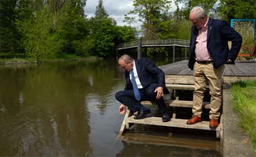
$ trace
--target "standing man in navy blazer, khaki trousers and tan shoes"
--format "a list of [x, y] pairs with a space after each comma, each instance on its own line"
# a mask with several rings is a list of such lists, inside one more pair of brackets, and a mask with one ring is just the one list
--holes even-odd
[[[188, 66], [194, 69], [195, 91], [193, 95], [193, 117], [187, 124], [201, 122], [202, 102], [206, 81], [210, 85], [210, 127], [218, 126], [221, 106], [221, 78], [224, 64], [234, 64], [239, 53], [242, 37], [223, 20], [210, 18], [202, 7], [193, 7], [189, 20], [191, 39]], [[231, 49], [228, 41], [232, 41]]]

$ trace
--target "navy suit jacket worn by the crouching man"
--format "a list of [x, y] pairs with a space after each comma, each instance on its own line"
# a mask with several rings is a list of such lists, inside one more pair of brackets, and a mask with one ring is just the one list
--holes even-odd
[[[165, 88], [165, 74], [161, 69], [155, 66], [150, 60], [147, 58], [143, 58], [140, 60], [134, 60], [135, 66], [137, 70], [137, 74], [139, 77], [139, 81], [143, 88], [147, 88], [152, 83], [157, 83], [158, 87]], [[132, 82], [130, 81], [130, 72], [125, 71], [125, 79], [126, 86], [125, 90], [133, 89]]]

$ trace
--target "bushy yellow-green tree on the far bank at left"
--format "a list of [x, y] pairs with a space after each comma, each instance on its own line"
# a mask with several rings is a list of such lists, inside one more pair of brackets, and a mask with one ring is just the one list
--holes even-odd
[[24, 20], [21, 30], [26, 54], [35, 60], [51, 58], [61, 50], [63, 40], [51, 33], [52, 20], [47, 7]]

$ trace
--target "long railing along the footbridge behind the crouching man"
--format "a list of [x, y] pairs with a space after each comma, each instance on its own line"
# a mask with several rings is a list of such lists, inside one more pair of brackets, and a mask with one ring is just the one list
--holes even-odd
[[[133, 42], [126, 42], [119, 44], [117, 46], [117, 49], [125, 49], [129, 47], [137, 47], [138, 46], [138, 40]], [[168, 39], [168, 40], [145, 40], [142, 41], [143, 47], [154, 47], [154, 46], [183, 46], [183, 47], [189, 47], [189, 40], [183, 40], [183, 39]]]

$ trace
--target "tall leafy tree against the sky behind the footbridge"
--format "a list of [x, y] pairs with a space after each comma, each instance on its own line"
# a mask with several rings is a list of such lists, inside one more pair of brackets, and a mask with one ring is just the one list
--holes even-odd
[[[158, 24], [161, 22], [161, 11], [168, 11], [171, 1], [169, 0], [134, 0], [134, 9], [129, 14], [139, 16], [139, 21], [143, 22], [143, 32], [146, 40], [158, 38]], [[134, 22], [134, 17], [125, 15], [125, 22]]]

